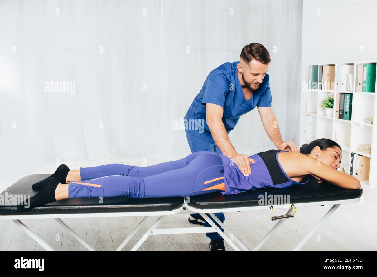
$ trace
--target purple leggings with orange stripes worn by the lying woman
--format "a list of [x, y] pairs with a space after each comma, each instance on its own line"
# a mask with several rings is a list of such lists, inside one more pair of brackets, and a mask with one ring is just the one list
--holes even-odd
[[124, 164], [82, 167], [80, 177], [80, 182], [69, 182], [69, 198], [185, 197], [225, 190], [222, 160], [209, 151], [146, 167]]

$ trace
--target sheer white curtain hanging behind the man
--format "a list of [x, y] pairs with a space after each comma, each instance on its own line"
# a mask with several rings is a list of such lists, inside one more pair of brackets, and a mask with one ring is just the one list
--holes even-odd
[[[270, 52], [273, 110], [297, 144], [301, 25], [299, 0], [0, 0], [0, 170], [189, 154], [175, 123], [252, 42]], [[274, 148], [257, 109], [230, 139]]]

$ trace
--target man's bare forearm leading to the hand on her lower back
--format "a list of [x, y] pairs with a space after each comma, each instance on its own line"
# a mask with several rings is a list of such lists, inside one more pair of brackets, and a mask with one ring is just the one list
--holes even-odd
[[237, 154], [236, 150], [229, 140], [224, 123], [221, 120], [215, 120], [212, 122], [207, 121], [207, 125], [211, 130], [213, 140], [225, 156], [231, 158], [233, 155]]

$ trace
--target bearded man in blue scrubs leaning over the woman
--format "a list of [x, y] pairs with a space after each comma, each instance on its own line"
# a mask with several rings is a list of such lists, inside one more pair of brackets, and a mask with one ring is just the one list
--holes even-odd
[[[270, 61], [270, 54], [262, 44], [251, 43], [242, 49], [239, 62], [224, 63], [209, 73], [184, 118], [186, 122], [194, 122], [185, 128], [191, 152], [223, 153], [245, 176], [249, 176], [250, 162], [254, 163], [254, 160], [245, 154], [238, 154], [228, 134], [239, 117], [255, 107], [268, 137], [277, 149], [299, 152], [293, 141], [283, 141], [276, 124], [271, 108], [270, 76], [267, 74]], [[216, 213], [216, 216], [224, 222], [223, 213]], [[190, 214], [189, 221], [210, 226], [200, 214]], [[224, 239], [218, 233], [206, 235], [211, 240], [211, 251], [225, 251]]]

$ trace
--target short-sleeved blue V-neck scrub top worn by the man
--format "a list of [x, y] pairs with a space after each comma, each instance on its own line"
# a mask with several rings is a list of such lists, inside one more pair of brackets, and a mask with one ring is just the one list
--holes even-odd
[[[221, 66], [213, 69], [205, 79], [202, 89], [195, 96], [189, 110], [184, 119], [203, 119], [192, 122], [199, 122], [194, 130], [189, 130], [190, 133], [200, 137], [209, 138], [213, 141], [210, 135], [210, 129], [207, 125], [205, 104], [217, 104], [224, 108], [224, 115], [222, 122], [224, 123], [227, 133], [236, 127], [236, 124], [241, 115], [253, 110], [257, 107], [271, 107], [272, 96], [270, 90], [270, 76], [266, 73], [263, 82], [258, 89], [253, 90], [251, 98], [246, 101], [244, 92], [242, 91], [241, 83], [237, 75], [237, 64], [239, 61], [233, 63], [224, 63]], [[204, 122], [201, 125], [201, 122]], [[190, 124], [187, 124], [190, 126]], [[203, 131], [204, 127], [204, 131]], [[187, 127], [186, 129], [192, 127]]]

